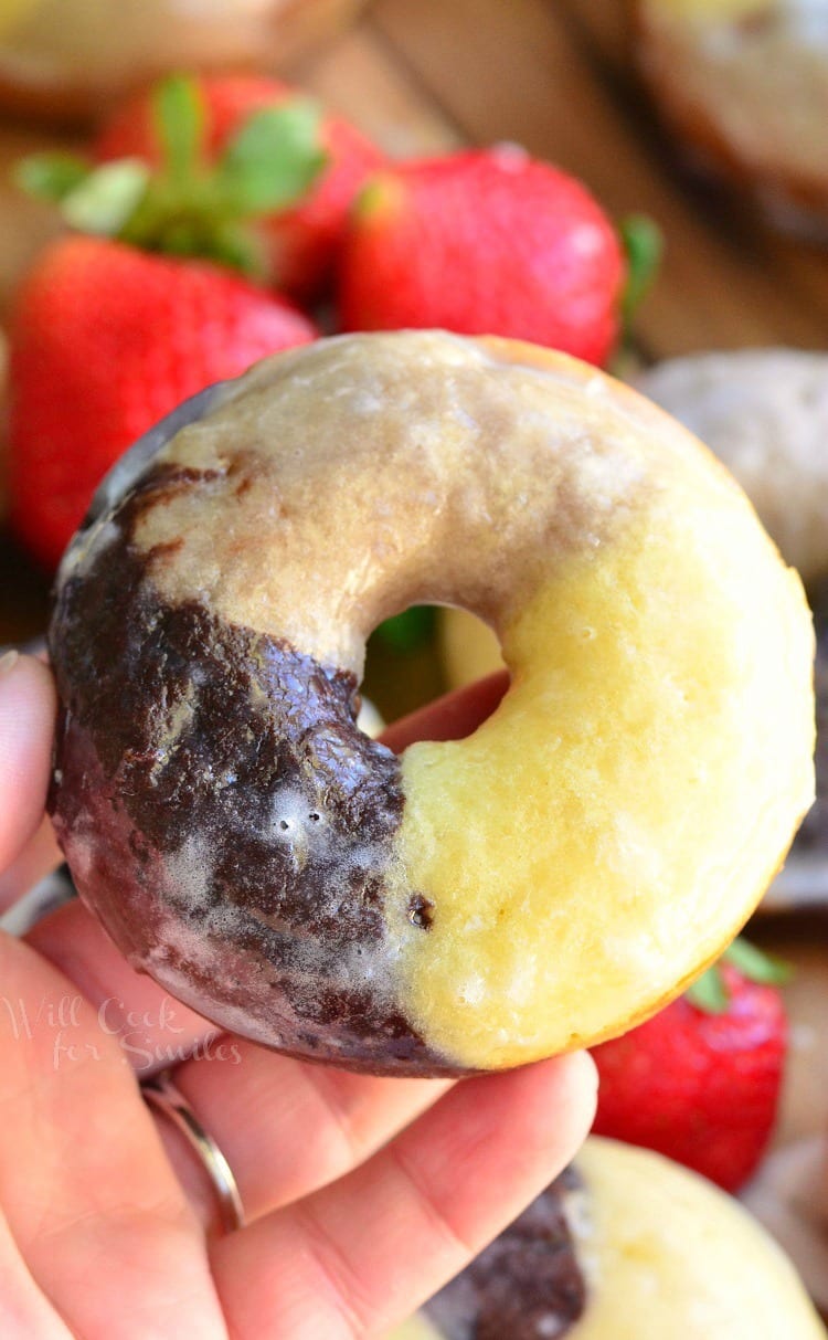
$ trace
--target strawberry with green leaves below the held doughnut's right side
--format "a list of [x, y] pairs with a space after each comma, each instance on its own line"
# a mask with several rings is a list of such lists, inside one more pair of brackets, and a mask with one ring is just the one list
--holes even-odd
[[776, 1119], [786, 1020], [781, 966], [736, 941], [723, 959], [646, 1024], [602, 1043], [594, 1130], [642, 1144], [736, 1191]]

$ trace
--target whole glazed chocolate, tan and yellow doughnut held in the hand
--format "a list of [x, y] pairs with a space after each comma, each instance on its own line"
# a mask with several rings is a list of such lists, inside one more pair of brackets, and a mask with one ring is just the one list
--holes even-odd
[[[466, 740], [355, 728], [410, 604], [498, 632]], [[502, 1069], [661, 1008], [813, 796], [813, 634], [744, 493], [595, 368], [320, 340], [115, 466], [56, 583], [51, 812], [130, 962], [224, 1028], [378, 1073]]]

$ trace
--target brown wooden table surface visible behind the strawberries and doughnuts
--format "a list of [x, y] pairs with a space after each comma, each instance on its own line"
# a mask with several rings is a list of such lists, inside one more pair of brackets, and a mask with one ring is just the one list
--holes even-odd
[[[828, 251], [778, 236], [748, 201], [687, 174], [630, 70], [622, 8], [619, 0], [374, 0], [344, 36], [283, 74], [394, 155], [519, 141], [580, 176], [614, 216], [651, 214], [666, 256], [636, 319], [644, 360], [752, 344], [827, 347]], [[0, 318], [55, 230], [44, 209], [15, 194], [5, 169], [54, 138], [0, 122]], [[0, 643], [43, 628], [47, 591], [0, 536]], [[406, 674], [406, 694], [431, 693], [422, 663]], [[825, 1123], [825, 1085], [815, 1075], [825, 1075], [827, 1053], [813, 1041], [828, 1026], [825, 923], [788, 921], [781, 941], [804, 965], [792, 993], [801, 1079], [786, 1093], [788, 1138]], [[813, 973], [819, 990], [809, 990]]]

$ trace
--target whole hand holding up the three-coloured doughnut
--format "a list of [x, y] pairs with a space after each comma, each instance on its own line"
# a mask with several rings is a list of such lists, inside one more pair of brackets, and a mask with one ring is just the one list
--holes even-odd
[[[502, 687], [502, 686], [501, 686]], [[492, 683], [389, 742], [468, 728]], [[60, 860], [43, 805], [55, 694], [0, 671], [0, 902]], [[135, 974], [74, 900], [0, 934], [4, 1340], [383, 1336], [572, 1158], [584, 1056], [447, 1084], [307, 1065], [222, 1037]], [[202, 1166], [139, 1079], [173, 1063], [236, 1175], [247, 1225], [214, 1231]]]

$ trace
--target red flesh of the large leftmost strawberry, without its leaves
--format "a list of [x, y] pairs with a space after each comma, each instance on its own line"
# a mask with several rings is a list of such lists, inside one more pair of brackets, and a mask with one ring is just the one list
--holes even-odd
[[292, 304], [202, 261], [70, 237], [9, 327], [12, 524], [55, 567], [110, 465], [180, 401], [316, 335]]

